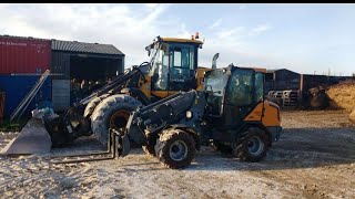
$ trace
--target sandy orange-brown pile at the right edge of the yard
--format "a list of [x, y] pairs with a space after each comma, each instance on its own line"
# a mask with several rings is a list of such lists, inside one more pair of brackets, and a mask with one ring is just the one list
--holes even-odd
[[355, 108], [355, 83], [333, 85], [326, 91], [326, 94], [332, 107], [344, 108], [348, 113]]

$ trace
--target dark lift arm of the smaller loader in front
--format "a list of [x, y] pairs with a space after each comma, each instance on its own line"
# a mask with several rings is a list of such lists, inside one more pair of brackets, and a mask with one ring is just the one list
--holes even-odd
[[[119, 156], [129, 154], [130, 142], [143, 146], [155, 145], [154, 140], [159, 135], [175, 124], [181, 124], [175, 126], [197, 137], [205, 104], [205, 93], [192, 90], [179, 92], [145, 107], [139, 107], [131, 114], [126, 130], [120, 133], [122, 138], [118, 144]], [[197, 139], [195, 142], [199, 143]]]

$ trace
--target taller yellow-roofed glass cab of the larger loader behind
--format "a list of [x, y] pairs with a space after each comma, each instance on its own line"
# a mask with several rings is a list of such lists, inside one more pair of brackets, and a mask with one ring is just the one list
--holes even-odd
[[153, 60], [151, 94], [163, 98], [179, 91], [196, 88], [195, 71], [197, 69], [199, 40], [158, 38], [146, 48]]

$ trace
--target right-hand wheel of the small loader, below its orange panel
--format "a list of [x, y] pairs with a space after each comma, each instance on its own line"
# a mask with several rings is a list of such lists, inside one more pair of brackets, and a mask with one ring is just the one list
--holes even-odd
[[266, 157], [268, 136], [260, 128], [250, 128], [232, 145], [233, 154], [242, 161], [256, 163]]

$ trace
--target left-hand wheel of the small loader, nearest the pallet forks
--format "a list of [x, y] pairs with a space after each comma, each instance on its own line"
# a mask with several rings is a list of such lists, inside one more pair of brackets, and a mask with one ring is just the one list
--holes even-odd
[[168, 168], [179, 169], [191, 165], [195, 156], [195, 142], [180, 129], [164, 130], [155, 145], [158, 159]]

